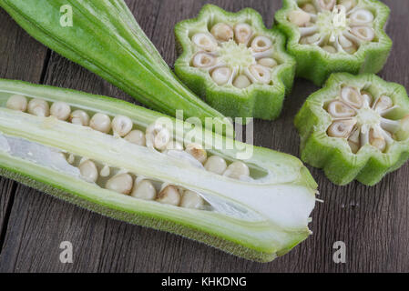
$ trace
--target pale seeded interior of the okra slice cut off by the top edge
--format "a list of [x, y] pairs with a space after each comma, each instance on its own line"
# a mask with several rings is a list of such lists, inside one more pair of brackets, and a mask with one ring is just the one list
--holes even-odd
[[362, 0], [297, 1], [288, 14], [288, 20], [299, 27], [300, 44], [351, 55], [361, 45], [377, 41], [375, 17], [372, 7]]

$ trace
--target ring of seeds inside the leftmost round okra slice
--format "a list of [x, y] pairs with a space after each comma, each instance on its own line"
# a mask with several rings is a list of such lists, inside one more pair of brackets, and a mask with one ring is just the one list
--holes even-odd
[[[238, 88], [246, 88], [252, 83], [271, 83], [270, 70], [278, 65], [269, 51], [272, 48], [271, 39], [264, 35], [255, 36], [251, 25], [240, 23], [231, 27], [225, 23], [218, 23], [211, 27], [210, 33], [197, 33], [191, 37], [191, 41], [200, 49], [193, 56], [191, 64], [207, 69], [217, 85], [232, 84]], [[232, 44], [234, 42], [238, 46]], [[223, 54], [229, 54], [229, 49], [238, 47], [241, 51], [248, 49], [248, 53], [257, 59], [257, 64], [240, 68], [239, 71], [243, 72], [237, 72], [237, 68], [229, 67], [228, 61], [220, 62], [218, 56], [221, 51], [227, 49], [228, 52]]]

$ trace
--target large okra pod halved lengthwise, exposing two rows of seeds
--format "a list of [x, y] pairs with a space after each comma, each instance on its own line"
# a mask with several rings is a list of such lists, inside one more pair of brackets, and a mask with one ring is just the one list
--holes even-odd
[[118, 99], [6, 80], [0, 172], [97, 213], [263, 262], [310, 235], [317, 188], [294, 156]]

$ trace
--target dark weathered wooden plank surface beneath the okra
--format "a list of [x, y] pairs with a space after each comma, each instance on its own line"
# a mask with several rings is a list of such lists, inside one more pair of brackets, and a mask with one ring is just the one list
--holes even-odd
[[[230, 11], [258, 10], [271, 26], [279, 0], [127, 1], [168, 64], [176, 54], [173, 26], [193, 17], [205, 3]], [[387, 27], [394, 41], [381, 76], [409, 88], [409, 1], [384, 1], [392, 8]], [[0, 8], [0, 77], [56, 85], [133, 99], [79, 65], [39, 44]], [[298, 79], [279, 120], [255, 122], [255, 145], [299, 156], [292, 120], [303, 100], [318, 88]], [[312, 213], [310, 236], [290, 254], [269, 264], [227, 255], [164, 232], [131, 226], [0, 179], [0, 271], [2, 272], [408, 272], [409, 165], [373, 187], [334, 186], [311, 169], [323, 204]], [[74, 263], [61, 264], [59, 245], [70, 241]], [[334, 264], [332, 245], [343, 241], [345, 264]]]

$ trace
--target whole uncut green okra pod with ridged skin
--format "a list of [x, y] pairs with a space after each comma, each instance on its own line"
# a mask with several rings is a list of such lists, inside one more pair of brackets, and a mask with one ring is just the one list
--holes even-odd
[[[0, 6], [36, 40], [144, 105], [168, 115], [183, 110], [186, 118], [202, 121], [217, 117], [216, 122], [230, 127], [223, 115], [180, 83], [123, 0], [1, 0]], [[61, 25], [69, 7], [73, 24]]]

